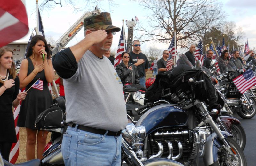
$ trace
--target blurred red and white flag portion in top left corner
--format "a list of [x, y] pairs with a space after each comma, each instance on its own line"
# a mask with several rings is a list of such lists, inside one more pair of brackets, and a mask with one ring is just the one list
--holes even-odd
[[1, 1], [0, 18], [0, 47], [28, 33], [28, 16], [21, 0]]

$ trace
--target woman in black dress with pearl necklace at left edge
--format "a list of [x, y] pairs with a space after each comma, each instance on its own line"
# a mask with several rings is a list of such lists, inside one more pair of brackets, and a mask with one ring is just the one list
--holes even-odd
[[19, 78], [12, 57], [10, 47], [0, 48], [0, 151], [7, 161], [12, 143], [17, 142], [12, 106], [17, 107], [27, 94], [19, 93]]

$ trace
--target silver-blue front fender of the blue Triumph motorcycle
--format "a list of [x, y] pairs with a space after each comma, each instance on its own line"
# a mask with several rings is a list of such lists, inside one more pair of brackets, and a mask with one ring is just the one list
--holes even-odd
[[[231, 137], [232, 135], [228, 132], [221, 131], [221, 133], [227, 138]], [[209, 135], [206, 139], [205, 144], [205, 154], [203, 156], [204, 165], [210, 166], [214, 164], [215, 162], [218, 162], [218, 147], [220, 147], [222, 143], [218, 139], [216, 133], [212, 133]]]

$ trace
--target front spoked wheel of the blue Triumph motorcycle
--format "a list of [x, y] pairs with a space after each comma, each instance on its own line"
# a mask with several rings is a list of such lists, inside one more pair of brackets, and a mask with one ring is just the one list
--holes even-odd
[[232, 156], [224, 149], [218, 150], [218, 166], [247, 166], [244, 153], [239, 145], [232, 138], [227, 138], [231, 148], [236, 153], [237, 161], [233, 160]]

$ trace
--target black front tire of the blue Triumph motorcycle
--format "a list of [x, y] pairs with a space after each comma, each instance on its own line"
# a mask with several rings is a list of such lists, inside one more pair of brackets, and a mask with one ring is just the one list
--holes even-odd
[[[233, 148], [233, 150], [236, 152], [236, 156], [238, 157], [238, 164], [234, 163], [234, 161], [231, 158], [221, 157], [223, 155], [223, 152], [222, 152], [223, 150], [220, 149], [220, 152], [218, 152], [218, 162], [216, 162], [214, 166], [230, 166], [230, 165], [247, 166], [243, 150], [232, 138], [228, 137], [227, 140], [231, 148]], [[225, 161], [223, 161], [224, 158], [226, 158]]]

